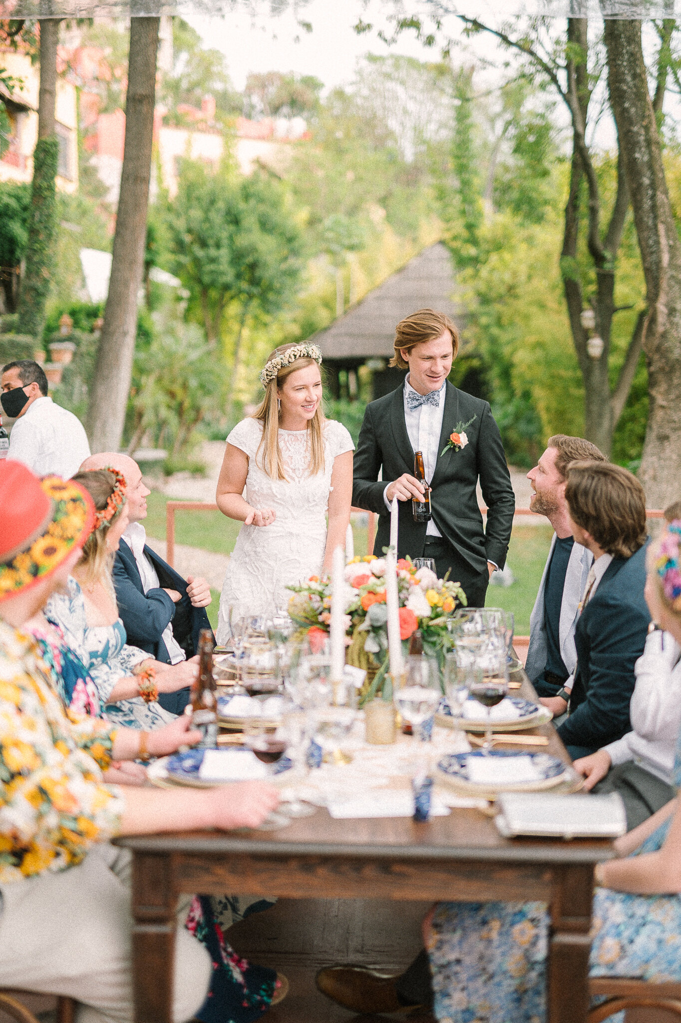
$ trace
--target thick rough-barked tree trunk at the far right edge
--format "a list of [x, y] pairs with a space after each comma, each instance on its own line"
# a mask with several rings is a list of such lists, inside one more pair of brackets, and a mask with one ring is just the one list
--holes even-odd
[[681, 246], [648, 93], [641, 23], [606, 20], [605, 46], [610, 103], [646, 284], [642, 345], [649, 409], [639, 475], [648, 505], [664, 508], [681, 495]]

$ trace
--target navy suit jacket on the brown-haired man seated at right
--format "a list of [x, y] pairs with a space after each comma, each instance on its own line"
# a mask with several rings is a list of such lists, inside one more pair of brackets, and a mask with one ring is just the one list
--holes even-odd
[[634, 665], [650, 622], [644, 544], [631, 558], [614, 558], [575, 629], [577, 671], [570, 717], [558, 728], [568, 746], [601, 749], [631, 731]]

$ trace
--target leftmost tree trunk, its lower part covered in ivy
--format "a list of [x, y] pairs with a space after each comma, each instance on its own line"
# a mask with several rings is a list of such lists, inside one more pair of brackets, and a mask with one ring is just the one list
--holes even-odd
[[26, 271], [18, 301], [18, 329], [40, 341], [45, 326], [45, 304], [52, 280], [59, 143], [54, 132], [56, 51], [59, 19], [40, 19], [40, 94], [38, 142], [33, 153], [33, 183]]

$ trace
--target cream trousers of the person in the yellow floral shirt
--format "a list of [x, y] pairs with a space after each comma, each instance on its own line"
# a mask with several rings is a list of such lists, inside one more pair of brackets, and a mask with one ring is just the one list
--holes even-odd
[[[132, 1023], [130, 861], [125, 849], [95, 846], [78, 866], [2, 885], [0, 987], [76, 998], [77, 1023]], [[190, 899], [180, 900], [182, 922]], [[176, 1023], [202, 1006], [211, 969], [207, 949], [178, 926]]]

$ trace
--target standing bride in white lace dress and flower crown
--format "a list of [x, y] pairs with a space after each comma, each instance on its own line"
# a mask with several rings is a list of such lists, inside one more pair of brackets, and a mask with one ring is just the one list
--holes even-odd
[[275, 349], [261, 373], [260, 408], [227, 438], [216, 500], [243, 526], [222, 587], [220, 643], [230, 635], [230, 608], [285, 608], [286, 586], [330, 569], [345, 544], [354, 444], [340, 422], [324, 418], [320, 362], [316, 345]]

